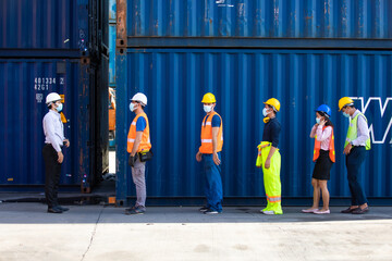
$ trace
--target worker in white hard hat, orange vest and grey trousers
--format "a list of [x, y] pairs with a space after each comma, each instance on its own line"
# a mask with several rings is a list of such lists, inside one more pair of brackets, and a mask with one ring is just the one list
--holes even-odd
[[132, 178], [136, 185], [136, 203], [125, 209], [125, 214], [143, 214], [146, 211], [146, 160], [151, 156], [151, 142], [149, 123], [144, 108], [147, 105], [147, 97], [137, 92], [131, 100], [130, 110], [136, 116], [132, 121], [127, 135], [128, 164], [132, 167]]

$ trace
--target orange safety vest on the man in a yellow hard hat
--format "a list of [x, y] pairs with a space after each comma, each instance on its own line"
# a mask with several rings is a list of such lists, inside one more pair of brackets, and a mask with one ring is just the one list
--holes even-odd
[[[201, 123], [201, 146], [199, 151], [204, 154], [212, 154], [212, 117], [218, 115], [221, 119], [221, 125], [219, 127], [218, 137], [217, 137], [217, 152], [222, 151], [223, 147], [223, 122], [222, 117], [217, 113], [212, 112], [209, 115], [206, 115], [203, 119]], [[207, 117], [207, 121], [206, 121]]]

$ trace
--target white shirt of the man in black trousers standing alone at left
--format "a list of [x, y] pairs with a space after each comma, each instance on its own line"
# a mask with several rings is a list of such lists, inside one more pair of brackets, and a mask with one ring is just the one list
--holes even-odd
[[64, 141], [64, 124], [57, 111], [49, 110], [42, 120], [45, 144], [51, 144], [57, 152], [61, 151]]

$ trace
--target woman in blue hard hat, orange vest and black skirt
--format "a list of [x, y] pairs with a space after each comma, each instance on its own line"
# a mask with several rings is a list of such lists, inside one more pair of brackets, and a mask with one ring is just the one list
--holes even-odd
[[[329, 191], [327, 182], [330, 179], [330, 171], [335, 162], [333, 125], [330, 120], [331, 109], [319, 105], [316, 110], [316, 124], [311, 128], [310, 138], [315, 138], [314, 161], [316, 162], [311, 186], [314, 187], [314, 203], [304, 213], [329, 214]], [[322, 209], [319, 209], [320, 190], [322, 195]]]

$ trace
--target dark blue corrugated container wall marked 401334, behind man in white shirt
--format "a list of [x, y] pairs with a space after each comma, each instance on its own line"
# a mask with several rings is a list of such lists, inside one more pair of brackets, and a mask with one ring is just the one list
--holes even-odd
[[89, 177], [93, 125], [84, 100], [89, 85], [82, 85], [81, 71], [78, 59], [0, 60], [0, 185], [45, 184], [42, 119], [48, 112], [45, 98], [52, 91], [64, 95], [64, 133], [71, 141], [61, 184], [81, 185], [84, 175]]

